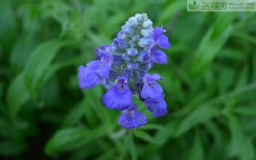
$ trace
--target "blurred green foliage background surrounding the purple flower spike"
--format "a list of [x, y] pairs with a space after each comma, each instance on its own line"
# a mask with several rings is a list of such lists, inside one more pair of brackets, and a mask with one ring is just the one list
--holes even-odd
[[[81, 90], [77, 67], [147, 13], [172, 47], [168, 115], [117, 124], [102, 86]], [[0, 159], [256, 159], [256, 14], [186, 12], [184, 0], [0, 0]]]

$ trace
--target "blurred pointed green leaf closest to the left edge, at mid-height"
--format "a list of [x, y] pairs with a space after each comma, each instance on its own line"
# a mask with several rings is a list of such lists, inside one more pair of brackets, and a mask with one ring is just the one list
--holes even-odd
[[24, 72], [21, 72], [10, 84], [6, 101], [10, 108], [10, 115], [15, 118], [21, 106], [29, 100], [29, 92], [24, 83]]

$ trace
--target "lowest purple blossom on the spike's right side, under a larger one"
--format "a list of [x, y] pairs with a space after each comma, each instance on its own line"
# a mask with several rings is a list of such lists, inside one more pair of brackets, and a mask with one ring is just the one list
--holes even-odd
[[152, 99], [146, 99], [144, 100], [144, 103], [147, 105], [147, 108], [149, 111], [153, 113], [154, 116], [164, 116], [167, 111], [167, 105], [166, 102], [164, 101], [164, 94], [161, 97], [160, 102], [155, 102]]

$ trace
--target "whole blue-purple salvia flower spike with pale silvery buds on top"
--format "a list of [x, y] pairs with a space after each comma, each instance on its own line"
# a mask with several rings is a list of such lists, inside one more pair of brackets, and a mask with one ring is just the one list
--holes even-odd
[[138, 111], [132, 97], [140, 97], [154, 116], [166, 115], [163, 88], [157, 83], [162, 77], [148, 74], [154, 63], [166, 64], [166, 54], [157, 49], [168, 49], [170, 43], [163, 27], [152, 27], [147, 14], [129, 18], [118, 31], [111, 45], [95, 48], [96, 60], [79, 67], [79, 85], [82, 89], [103, 84], [108, 91], [102, 95], [109, 109], [122, 111], [118, 124], [134, 129], [147, 123]]

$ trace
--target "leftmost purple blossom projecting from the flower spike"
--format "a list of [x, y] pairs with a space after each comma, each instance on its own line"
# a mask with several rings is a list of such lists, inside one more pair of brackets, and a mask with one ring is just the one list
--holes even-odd
[[97, 53], [97, 60], [90, 61], [86, 64], [86, 67], [82, 65], [79, 66], [79, 86], [84, 89], [92, 88], [98, 83], [104, 83], [109, 76], [111, 60], [111, 54], [100, 50], [99, 53]]

